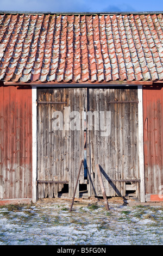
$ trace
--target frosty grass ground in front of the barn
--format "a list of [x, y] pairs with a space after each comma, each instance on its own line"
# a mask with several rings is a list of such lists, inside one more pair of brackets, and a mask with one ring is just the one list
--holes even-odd
[[0, 245], [162, 245], [163, 207], [41, 201], [0, 208]]

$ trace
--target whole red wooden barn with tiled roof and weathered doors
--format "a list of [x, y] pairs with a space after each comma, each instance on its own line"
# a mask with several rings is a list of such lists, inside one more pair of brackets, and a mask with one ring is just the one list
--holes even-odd
[[1, 11], [0, 204], [163, 200], [162, 15]]

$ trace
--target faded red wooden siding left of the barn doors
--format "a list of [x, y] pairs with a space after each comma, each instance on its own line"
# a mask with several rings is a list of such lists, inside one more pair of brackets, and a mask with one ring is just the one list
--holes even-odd
[[0, 87], [0, 199], [32, 198], [32, 89]]

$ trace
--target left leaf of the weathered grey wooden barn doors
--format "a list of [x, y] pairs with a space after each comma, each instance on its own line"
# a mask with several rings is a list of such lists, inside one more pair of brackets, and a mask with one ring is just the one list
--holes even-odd
[[[58, 197], [64, 184], [73, 196], [84, 159], [86, 89], [38, 89], [37, 196]], [[82, 168], [84, 168], [82, 166]], [[80, 183], [84, 182], [84, 169]], [[76, 196], [79, 196], [79, 185]]]

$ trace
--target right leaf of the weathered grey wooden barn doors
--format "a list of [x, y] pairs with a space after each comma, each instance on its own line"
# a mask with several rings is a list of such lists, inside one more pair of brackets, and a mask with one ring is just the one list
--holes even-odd
[[87, 122], [89, 196], [102, 196], [96, 164], [106, 196], [125, 196], [132, 187], [139, 196], [137, 88], [92, 88], [88, 96], [88, 110], [96, 116], [94, 125], [91, 118]]

